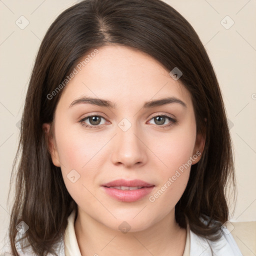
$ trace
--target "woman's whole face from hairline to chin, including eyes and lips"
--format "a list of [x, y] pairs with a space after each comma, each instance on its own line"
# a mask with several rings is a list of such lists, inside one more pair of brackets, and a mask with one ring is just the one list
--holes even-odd
[[130, 231], [174, 216], [204, 144], [189, 92], [126, 46], [101, 47], [80, 69], [63, 89], [48, 139], [78, 213], [116, 230], [126, 221]]

